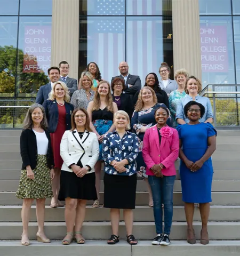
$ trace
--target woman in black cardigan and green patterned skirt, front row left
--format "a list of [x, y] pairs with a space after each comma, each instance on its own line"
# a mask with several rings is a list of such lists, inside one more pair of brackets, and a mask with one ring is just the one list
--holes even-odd
[[22, 204], [22, 245], [29, 245], [28, 222], [31, 204], [36, 199], [38, 223], [37, 241], [50, 243], [44, 234], [45, 199], [53, 196], [51, 180], [54, 178], [54, 162], [51, 138], [47, 132], [44, 108], [35, 103], [27, 112], [20, 137], [22, 171], [16, 196]]

